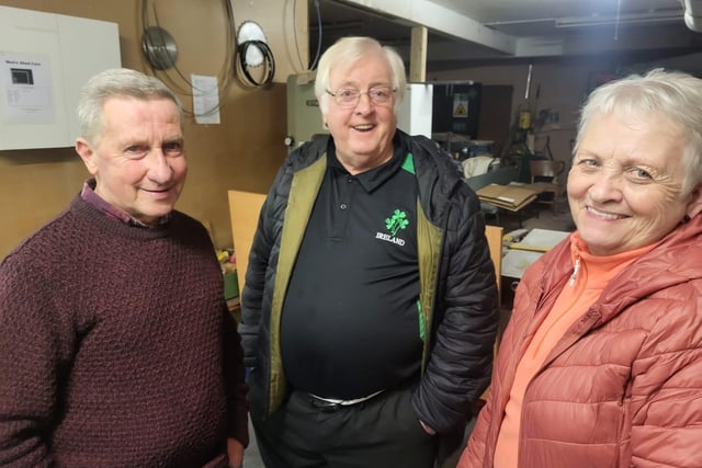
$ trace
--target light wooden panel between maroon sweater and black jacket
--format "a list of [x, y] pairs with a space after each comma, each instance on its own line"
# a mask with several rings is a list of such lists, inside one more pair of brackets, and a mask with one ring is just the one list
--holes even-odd
[[264, 201], [265, 194], [262, 193], [229, 191], [229, 217], [231, 219], [234, 253], [237, 259], [239, 297], [241, 297], [241, 290], [244, 290], [251, 242], [253, 242], [253, 235], [256, 233], [259, 214]]

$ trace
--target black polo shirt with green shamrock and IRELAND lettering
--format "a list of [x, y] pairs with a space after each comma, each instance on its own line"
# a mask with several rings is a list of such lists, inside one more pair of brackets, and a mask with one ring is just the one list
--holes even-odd
[[298, 390], [354, 399], [418, 375], [422, 352], [411, 156], [351, 175], [332, 144], [283, 305], [281, 350]]

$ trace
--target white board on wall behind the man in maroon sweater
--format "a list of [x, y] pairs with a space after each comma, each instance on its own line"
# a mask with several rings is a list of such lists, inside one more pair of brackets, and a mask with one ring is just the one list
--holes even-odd
[[116, 23], [0, 7], [0, 150], [73, 146], [80, 88], [121, 64]]

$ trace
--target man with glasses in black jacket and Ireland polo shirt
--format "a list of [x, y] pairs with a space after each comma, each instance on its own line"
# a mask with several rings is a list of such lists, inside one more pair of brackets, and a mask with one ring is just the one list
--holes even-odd
[[397, 129], [405, 85], [376, 41], [330, 47], [315, 92], [331, 137], [290, 155], [261, 209], [239, 331], [269, 467], [433, 467], [488, 385], [479, 202], [449, 155]]

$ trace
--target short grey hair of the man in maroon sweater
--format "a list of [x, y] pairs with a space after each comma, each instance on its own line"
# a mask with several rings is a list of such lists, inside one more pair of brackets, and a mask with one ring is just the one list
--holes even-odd
[[80, 135], [93, 145], [98, 144], [104, 130], [102, 111], [111, 98], [167, 99], [178, 107], [181, 126], [183, 124], [180, 100], [160, 80], [128, 68], [111, 68], [90, 78], [78, 95]]

